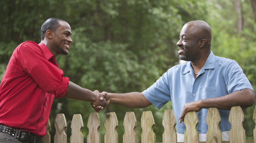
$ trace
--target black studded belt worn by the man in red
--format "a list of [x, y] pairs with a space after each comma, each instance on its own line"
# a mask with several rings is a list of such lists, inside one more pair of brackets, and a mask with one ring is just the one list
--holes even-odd
[[18, 141], [24, 143], [42, 143], [43, 138], [37, 135], [33, 135], [30, 132], [13, 129], [6, 125], [0, 124], [0, 132], [9, 134], [15, 137]]

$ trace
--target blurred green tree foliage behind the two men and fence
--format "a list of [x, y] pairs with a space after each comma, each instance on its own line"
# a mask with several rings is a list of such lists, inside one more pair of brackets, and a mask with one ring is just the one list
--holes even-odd
[[[15, 47], [26, 40], [39, 43], [42, 23], [50, 17], [57, 17], [66, 20], [73, 33], [69, 55], [56, 57], [64, 76], [93, 91], [142, 92], [178, 64], [176, 43], [182, 25], [191, 20], [204, 20], [212, 28], [214, 54], [236, 60], [255, 87], [256, 25], [249, 0], [243, 0], [241, 4], [244, 29], [238, 34], [231, 0], [0, 1], [0, 30], [3, 35], [0, 39], [0, 80]], [[125, 112], [133, 111], [138, 121], [136, 133], [140, 140], [142, 111], [151, 110], [156, 122], [157, 142], [161, 142], [164, 131], [162, 117], [167, 109], [171, 109], [171, 102], [160, 110], [153, 105], [144, 109], [109, 105], [99, 113], [101, 139], [104, 140], [107, 112], [116, 112], [117, 133], [119, 142], [122, 142]], [[253, 110], [254, 106], [244, 111], [245, 120], [249, 121], [244, 125], [246, 134], [252, 133]], [[55, 99], [50, 120], [53, 125], [56, 114], [64, 113], [70, 126], [73, 114], [81, 114], [86, 141], [87, 119], [93, 112], [88, 102]], [[54, 132], [52, 128], [51, 134]], [[71, 135], [70, 129], [67, 135]]]

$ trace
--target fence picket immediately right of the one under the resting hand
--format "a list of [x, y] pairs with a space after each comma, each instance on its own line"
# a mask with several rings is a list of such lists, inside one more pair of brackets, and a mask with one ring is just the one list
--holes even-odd
[[206, 132], [207, 143], [222, 143], [222, 132], [220, 130], [221, 115], [217, 108], [209, 108], [206, 115], [208, 130]]

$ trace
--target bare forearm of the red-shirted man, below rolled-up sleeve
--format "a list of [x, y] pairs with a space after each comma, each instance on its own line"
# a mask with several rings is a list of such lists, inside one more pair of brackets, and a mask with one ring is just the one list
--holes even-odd
[[70, 99], [94, 102], [96, 95], [91, 90], [82, 88], [76, 85], [75, 83], [69, 81], [68, 90], [64, 97], [70, 98]]

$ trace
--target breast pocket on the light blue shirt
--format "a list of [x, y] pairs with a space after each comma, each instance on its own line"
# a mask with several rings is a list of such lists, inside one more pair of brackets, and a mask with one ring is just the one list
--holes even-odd
[[203, 87], [201, 92], [202, 99], [219, 97], [218, 86], [214, 87]]

